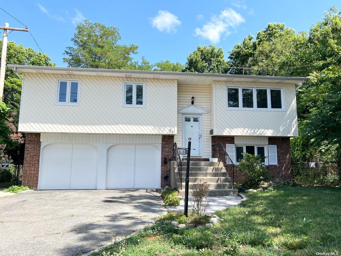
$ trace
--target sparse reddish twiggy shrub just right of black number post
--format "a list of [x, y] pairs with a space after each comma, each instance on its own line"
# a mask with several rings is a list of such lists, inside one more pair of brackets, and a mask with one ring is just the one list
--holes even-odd
[[[208, 205], [207, 196], [208, 196], [208, 186], [207, 182], [198, 182], [196, 185], [193, 185], [192, 188], [192, 196], [193, 196], [193, 210], [196, 212], [197, 216], [202, 216], [206, 212], [206, 207]], [[204, 200], [205, 199], [205, 200]]]

